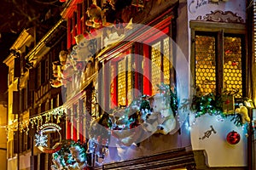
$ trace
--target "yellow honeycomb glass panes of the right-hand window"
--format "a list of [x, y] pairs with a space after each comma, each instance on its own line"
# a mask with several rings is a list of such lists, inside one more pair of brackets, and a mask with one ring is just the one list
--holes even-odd
[[202, 94], [220, 93], [224, 89], [237, 92], [235, 97], [242, 96], [243, 41], [242, 37], [230, 34], [211, 35], [197, 32], [195, 86], [201, 89]]

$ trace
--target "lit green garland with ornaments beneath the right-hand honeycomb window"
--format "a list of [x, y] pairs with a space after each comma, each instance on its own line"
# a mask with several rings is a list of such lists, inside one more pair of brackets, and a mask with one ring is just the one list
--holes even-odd
[[211, 116], [231, 117], [237, 127], [249, 123], [250, 117], [247, 111], [247, 101], [249, 99], [234, 99], [236, 92], [224, 91], [221, 94], [201, 94], [196, 91], [192, 99], [185, 99], [182, 104], [183, 109], [195, 112], [195, 117], [209, 114]]

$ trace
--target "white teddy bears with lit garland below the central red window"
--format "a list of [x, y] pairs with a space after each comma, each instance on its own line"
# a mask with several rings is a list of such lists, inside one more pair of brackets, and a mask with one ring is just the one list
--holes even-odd
[[176, 127], [177, 94], [166, 84], [158, 87], [159, 94], [142, 95], [131, 105], [115, 108], [92, 121], [90, 142], [108, 144], [113, 135], [120, 144], [130, 146], [138, 144], [148, 133], [172, 133]]

